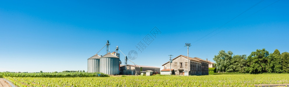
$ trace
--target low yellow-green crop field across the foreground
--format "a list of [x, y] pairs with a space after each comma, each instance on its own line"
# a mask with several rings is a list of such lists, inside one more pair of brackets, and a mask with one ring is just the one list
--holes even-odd
[[246, 86], [289, 84], [289, 74], [204, 75], [204, 76], [126, 76], [126, 77], [5, 77], [20, 87], [98, 87], [98, 86]]

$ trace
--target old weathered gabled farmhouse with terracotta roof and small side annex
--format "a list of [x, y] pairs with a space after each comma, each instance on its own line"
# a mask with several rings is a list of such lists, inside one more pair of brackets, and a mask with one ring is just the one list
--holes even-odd
[[[188, 71], [189, 67], [189, 75], [208, 75], [208, 61], [200, 59], [198, 57], [191, 58], [189, 57], [190, 64], [188, 66], [188, 57], [184, 55], [180, 55], [172, 59], [171, 69], [175, 71], [175, 75], [184, 75], [183, 71]], [[161, 73], [166, 73], [166, 70], [170, 69], [170, 61], [166, 62], [162, 65], [163, 70]], [[168, 74], [169, 75], [169, 74]]]

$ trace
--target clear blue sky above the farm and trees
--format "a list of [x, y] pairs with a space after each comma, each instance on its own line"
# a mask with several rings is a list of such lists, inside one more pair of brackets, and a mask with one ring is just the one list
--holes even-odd
[[190, 57], [210, 61], [220, 50], [288, 52], [288, 2], [0, 1], [0, 72], [87, 71], [87, 59], [107, 40], [127, 55], [154, 27], [161, 34], [137, 50], [138, 65], [162, 69], [168, 55], [187, 56], [185, 43]]

